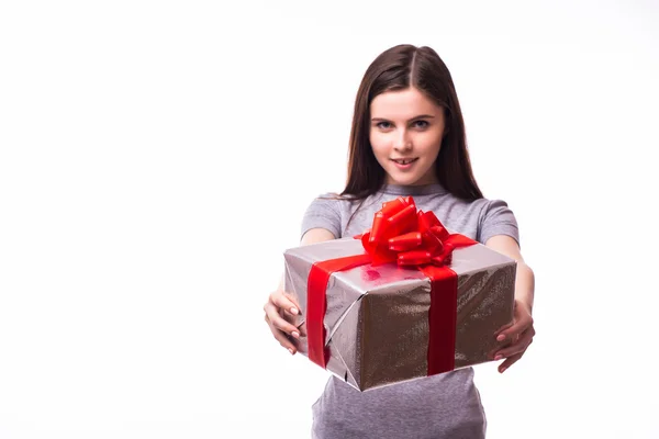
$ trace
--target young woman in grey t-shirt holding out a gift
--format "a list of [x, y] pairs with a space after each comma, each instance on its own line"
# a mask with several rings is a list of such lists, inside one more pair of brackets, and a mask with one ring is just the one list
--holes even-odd
[[[507, 204], [484, 199], [471, 171], [465, 125], [450, 74], [429, 47], [400, 45], [379, 55], [357, 92], [348, 181], [338, 195], [315, 199], [302, 221], [302, 245], [367, 230], [382, 202], [412, 195], [451, 232], [517, 260], [514, 324], [492, 334], [503, 372], [530, 345], [534, 274], [520, 252]], [[300, 337], [287, 315], [299, 313], [279, 289], [265, 305], [272, 335], [291, 353]], [[332, 376], [313, 405], [314, 438], [483, 438], [485, 416], [473, 370], [357, 392]]]

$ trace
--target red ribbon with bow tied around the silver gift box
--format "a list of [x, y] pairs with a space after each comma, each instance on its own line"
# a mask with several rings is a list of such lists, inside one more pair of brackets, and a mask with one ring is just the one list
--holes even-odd
[[366, 254], [330, 259], [311, 267], [306, 285], [306, 335], [309, 359], [327, 367], [325, 317], [327, 282], [332, 273], [371, 263], [395, 262], [421, 270], [431, 280], [428, 375], [455, 369], [458, 275], [447, 263], [453, 250], [477, 244], [459, 234], [449, 234], [433, 212], [416, 211], [411, 196], [382, 203], [372, 227], [361, 239]]

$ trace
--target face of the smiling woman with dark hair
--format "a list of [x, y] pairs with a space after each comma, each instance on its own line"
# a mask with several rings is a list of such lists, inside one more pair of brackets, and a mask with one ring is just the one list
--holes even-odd
[[435, 160], [444, 136], [444, 109], [410, 87], [378, 94], [370, 115], [370, 144], [387, 172], [387, 183], [437, 182]]

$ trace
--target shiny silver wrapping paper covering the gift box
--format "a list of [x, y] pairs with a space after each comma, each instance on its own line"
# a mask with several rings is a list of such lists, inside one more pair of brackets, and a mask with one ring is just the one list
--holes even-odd
[[[353, 238], [284, 252], [284, 290], [300, 304], [305, 333], [306, 281], [314, 262], [364, 252]], [[494, 333], [513, 319], [515, 260], [481, 244], [454, 250], [458, 274], [456, 369], [491, 361]], [[327, 284], [327, 370], [359, 391], [427, 376], [431, 281], [393, 263], [335, 272]], [[306, 356], [306, 338], [294, 340]]]

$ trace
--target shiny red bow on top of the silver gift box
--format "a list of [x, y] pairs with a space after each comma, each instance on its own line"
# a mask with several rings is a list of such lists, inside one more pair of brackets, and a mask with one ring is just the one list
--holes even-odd
[[373, 266], [443, 266], [449, 262], [457, 236], [450, 235], [433, 212], [417, 212], [412, 196], [399, 196], [382, 203], [371, 229], [361, 235], [361, 244]]

